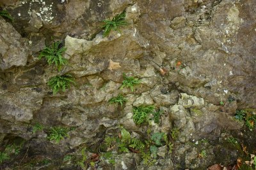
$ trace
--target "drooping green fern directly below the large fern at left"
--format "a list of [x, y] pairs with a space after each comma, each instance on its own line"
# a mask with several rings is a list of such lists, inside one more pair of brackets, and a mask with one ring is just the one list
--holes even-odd
[[52, 77], [47, 85], [51, 87], [53, 94], [56, 94], [60, 89], [65, 92], [66, 89], [70, 88], [70, 83], [75, 83], [74, 78], [70, 74], [65, 74], [63, 76]]

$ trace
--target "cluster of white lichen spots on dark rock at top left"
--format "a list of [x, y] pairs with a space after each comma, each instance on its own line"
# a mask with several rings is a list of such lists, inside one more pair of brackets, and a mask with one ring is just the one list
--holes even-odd
[[52, 11], [52, 4], [47, 4], [44, 0], [32, 0], [29, 3], [28, 14], [31, 16], [32, 13], [36, 13], [43, 22], [52, 22], [55, 17]]

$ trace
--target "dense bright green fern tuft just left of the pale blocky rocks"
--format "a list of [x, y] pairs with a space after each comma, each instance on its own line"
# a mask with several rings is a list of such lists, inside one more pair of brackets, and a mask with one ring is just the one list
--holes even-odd
[[133, 112], [133, 121], [138, 124], [141, 125], [145, 122], [148, 121], [148, 115], [150, 113], [154, 114], [154, 109], [155, 107], [150, 105], [150, 106], [138, 106], [138, 107], [134, 107], [132, 112]]

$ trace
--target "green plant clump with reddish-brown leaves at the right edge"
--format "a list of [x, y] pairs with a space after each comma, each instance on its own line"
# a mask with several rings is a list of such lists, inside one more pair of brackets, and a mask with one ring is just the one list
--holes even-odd
[[244, 110], [237, 110], [235, 118], [237, 120], [244, 120], [246, 126], [252, 131], [255, 128], [256, 124], [256, 110], [255, 109], [244, 109]]

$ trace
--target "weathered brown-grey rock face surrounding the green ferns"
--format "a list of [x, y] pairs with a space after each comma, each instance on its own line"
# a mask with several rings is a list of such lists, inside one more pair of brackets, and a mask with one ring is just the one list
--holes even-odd
[[[111, 150], [100, 147], [122, 126], [141, 139], [149, 127], [165, 132], [175, 152], [168, 151], [171, 145], [159, 146], [150, 167], [131, 147], [129, 153], [113, 152], [115, 166], [90, 153], [93, 163], [84, 160], [89, 169], [206, 169], [222, 161], [214, 152], [221, 148], [216, 144], [221, 132], [243, 127], [234, 120], [236, 110], [255, 109], [256, 1], [3, 0], [0, 5], [15, 19], [9, 23], [0, 17], [0, 146], [26, 139], [22, 153], [28, 155], [6, 161], [3, 168], [18, 167], [14, 162], [22, 160], [26, 169], [29, 161], [43, 157], [52, 160], [47, 168], [77, 169], [74, 160], [84, 156], [82, 148]], [[102, 21], [122, 11], [127, 24], [104, 37]], [[54, 41], [67, 48], [68, 64], [60, 72], [38, 60], [40, 50]], [[133, 91], [122, 86], [123, 73], [140, 81]], [[76, 84], [54, 95], [47, 82], [63, 74], [72, 74]], [[125, 103], [109, 103], [119, 94]], [[151, 105], [155, 111], [147, 115], [148, 126], [136, 125], [133, 108]], [[45, 128], [33, 132], [36, 123]], [[71, 129], [68, 138], [59, 145], [45, 139], [51, 127]], [[213, 144], [195, 144], [205, 138]], [[202, 159], [202, 150], [212, 154]], [[74, 159], [62, 160], [67, 155]], [[228, 158], [221, 163], [234, 162]]]

